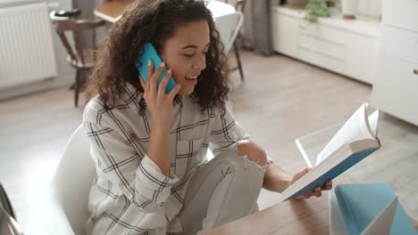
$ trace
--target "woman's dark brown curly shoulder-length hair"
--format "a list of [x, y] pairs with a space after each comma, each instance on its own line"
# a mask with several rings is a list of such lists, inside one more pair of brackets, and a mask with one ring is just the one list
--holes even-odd
[[[161, 53], [177, 27], [196, 20], [207, 21], [210, 45], [206, 53], [206, 68], [198, 77], [199, 82], [191, 97], [202, 111], [218, 108], [224, 113], [230, 92], [224, 45], [214, 26], [212, 13], [205, 7], [205, 2], [196, 0], [135, 1], [112, 25], [101, 45], [96, 67], [88, 78], [87, 101], [99, 93], [104, 105], [112, 106], [115, 99], [121, 97], [127, 82], [143, 93], [134, 65], [138, 53], [143, 53], [143, 46], [150, 42]], [[176, 101], [179, 100], [177, 97]], [[144, 115], [145, 109], [146, 102], [142, 99], [139, 113]]]

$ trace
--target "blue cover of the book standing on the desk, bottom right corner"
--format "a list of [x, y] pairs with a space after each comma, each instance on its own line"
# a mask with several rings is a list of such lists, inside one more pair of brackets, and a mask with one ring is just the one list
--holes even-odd
[[[335, 188], [339, 209], [350, 234], [361, 234], [396, 197], [387, 183], [342, 184]], [[418, 234], [404, 208], [397, 203], [389, 234]]]

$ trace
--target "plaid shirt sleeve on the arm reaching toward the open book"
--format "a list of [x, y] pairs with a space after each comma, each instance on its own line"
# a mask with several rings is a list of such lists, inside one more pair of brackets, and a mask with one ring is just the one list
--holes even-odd
[[209, 142], [213, 145], [213, 155], [240, 140], [246, 140], [249, 135], [242, 126], [235, 121], [230, 108], [226, 106], [225, 114], [220, 109], [213, 109], [213, 126], [209, 134]]

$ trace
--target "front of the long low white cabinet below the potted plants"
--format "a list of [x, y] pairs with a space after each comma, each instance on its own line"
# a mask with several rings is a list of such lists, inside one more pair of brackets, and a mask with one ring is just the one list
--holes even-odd
[[274, 51], [372, 84], [379, 54], [380, 34], [374, 32], [379, 31], [378, 20], [334, 16], [303, 28], [302, 18], [300, 12], [272, 6]]

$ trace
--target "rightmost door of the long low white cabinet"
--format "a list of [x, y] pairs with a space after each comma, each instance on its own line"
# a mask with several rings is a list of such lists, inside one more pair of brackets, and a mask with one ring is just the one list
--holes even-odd
[[379, 39], [372, 36], [347, 34], [346, 68], [349, 77], [373, 84], [379, 54]]

